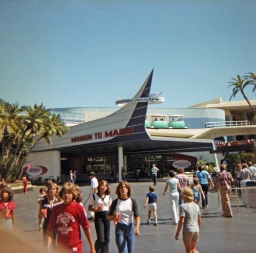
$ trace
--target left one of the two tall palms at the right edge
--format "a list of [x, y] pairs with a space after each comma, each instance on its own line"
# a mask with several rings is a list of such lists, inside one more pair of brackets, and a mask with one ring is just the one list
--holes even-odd
[[243, 78], [241, 78], [239, 75], [237, 76], [237, 79], [235, 79], [235, 78], [231, 78], [231, 79], [232, 79], [233, 81], [228, 82], [228, 83], [230, 83], [230, 85], [228, 85], [228, 87], [230, 87], [230, 86], [234, 86], [234, 87], [233, 87], [233, 90], [232, 90], [233, 93], [232, 93], [232, 95], [231, 95], [231, 97], [230, 97], [230, 99], [229, 99], [229, 102], [230, 102], [230, 100], [231, 100], [233, 97], [235, 97], [235, 96], [239, 93], [239, 91], [241, 91], [241, 93], [242, 93], [244, 99], [246, 100], [246, 102], [247, 102], [248, 105], [250, 106], [252, 112], [255, 114], [255, 113], [256, 113], [256, 110], [252, 107], [252, 105], [251, 105], [249, 99], [247, 98], [247, 96], [246, 96], [245, 93], [244, 93], [244, 88], [245, 88], [247, 85], [249, 85], [249, 84], [253, 84], [252, 80], [251, 80], [251, 79], [247, 79], [247, 78], [244, 78], [244, 79], [243, 79]]

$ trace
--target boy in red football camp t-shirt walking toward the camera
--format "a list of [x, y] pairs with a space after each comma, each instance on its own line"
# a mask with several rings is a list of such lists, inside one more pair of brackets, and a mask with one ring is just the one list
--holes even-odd
[[75, 202], [78, 196], [75, 186], [70, 182], [65, 183], [59, 196], [63, 199], [63, 203], [54, 206], [47, 229], [49, 251], [52, 252], [51, 245], [56, 229], [61, 252], [82, 253], [81, 225], [91, 247], [90, 253], [95, 253], [90, 223], [83, 206]]

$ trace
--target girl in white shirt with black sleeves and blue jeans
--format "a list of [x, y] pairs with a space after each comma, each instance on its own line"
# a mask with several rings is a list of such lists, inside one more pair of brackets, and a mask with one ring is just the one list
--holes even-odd
[[[110, 207], [108, 219], [116, 222], [116, 245], [119, 253], [134, 253], [135, 235], [140, 234], [138, 205], [132, 197], [132, 187], [121, 181], [116, 188], [115, 199]], [[134, 225], [134, 219], [136, 224]]]

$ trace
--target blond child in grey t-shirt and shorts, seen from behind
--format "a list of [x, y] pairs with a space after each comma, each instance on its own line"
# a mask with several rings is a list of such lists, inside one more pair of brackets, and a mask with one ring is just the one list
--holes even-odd
[[184, 204], [180, 205], [180, 220], [178, 223], [175, 239], [179, 240], [179, 234], [183, 226], [183, 243], [186, 253], [199, 253], [196, 249], [201, 225], [201, 213], [199, 206], [193, 202], [194, 193], [190, 188], [182, 191]]

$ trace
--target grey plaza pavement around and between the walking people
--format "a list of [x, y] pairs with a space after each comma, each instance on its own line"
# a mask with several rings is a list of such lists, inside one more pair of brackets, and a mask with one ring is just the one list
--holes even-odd
[[[112, 192], [112, 199], [115, 199], [115, 189], [117, 182], [110, 183]], [[79, 185], [79, 182], [78, 182]], [[133, 189], [133, 198], [135, 198], [139, 205], [139, 213], [141, 217], [140, 236], [136, 237], [135, 253], [140, 252], [172, 252], [181, 253], [185, 252], [182, 241], [175, 240], [175, 233], [177, 225], [173, 224], [170, 218], [170, 202], [169, 196], [166, 194], [163, 197], [163, 190], [165, 187], [165, 180], [162, 179], [156, 186], [156, 193], [158, 195], [157, 214], [158, 226], [152, 224], [148, 225], [147, 207], [144, 209], [145, 196], [148, 193], [148, 187], [152, 185], [150, 180], [143, 180], [139, 182], [131, 182]], [[16, 202], [16, 221], [14, 234], [18, 235], [16, 243], [27, 243], [33, 245], [38, 249], [43, 249], [42, 246], [42, 232], [38, 229], [38, 203], [40, 186], [34, 187], [33, 191], [27, 194], [19, 193], [14, 195]], [[89, 196], [90, 186], [81, 186], [84, 201]], [[238, 200], [238, 208], [236, 196], [231, 194], [231, 206], [233, 218], [222, 217], [222, 210], [219, 209], [217, 191], [211, 190], [208, 194], [209, 206], [207, 209], [201, 209], [202, 224], [200, 228], [200, 238], [197, 244], [197, 249], [201, 253], [236, 253], [236, 252], [255, 252], [255, 215], [256, 208], [247, 208], [243, 206], [242, 199]], [[87, 208], [88, 205], [86, 205]], [[239, 212], [239, 213], [238, 213]], [[152, 216], [153, 219], [153, 216]], [[96, 239], [94, 223], [91, 224], [91, 231], [93, 238]], [[17, 240], [18, 239], [18, 240]], [[87, 240], [82, 235], [83, 239], [83, 252], [90, 252]], [[10, 242], [8, 242], [10, 243]], [[0, 244], [1, 246], [1, 244]], [[10, 249], [11, 250], [11, 249]], [[0, 252], [4, 252], [1, 250]], [[5, 251], [7, 252], [7, 251]], [[9, 252], [25, 252], [22, 247], [12, 249]], [[26, 252], [35, 252], [34, 249], [27, 249]], [[38, 251], [39, 252], [39, 251]], [[44, 251], [46, 252], [46, 251]], [[111, 224], [111, 238], [110, 238], [110, 253], [117, 253], [115, 244], [115, 226]]]

